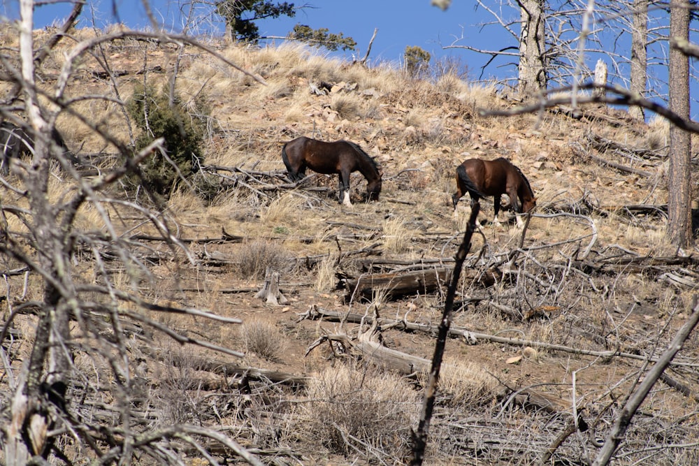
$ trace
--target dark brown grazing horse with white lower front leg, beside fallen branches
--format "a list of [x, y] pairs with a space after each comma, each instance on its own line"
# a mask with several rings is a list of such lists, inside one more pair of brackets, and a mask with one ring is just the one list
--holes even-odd
[[366, 201], [378, 201], [381, 192], [381, 173], [374, 159], [359, 145], [346, 140], [334, 143], [296, 138], [282, 147], [282, 161], [291, 181], [303, 180], [306, 168], [324, 175], [337, 173], [340, 180], [340, 202], [349, 202], [349, 174], [359, 171], [366, 178]]

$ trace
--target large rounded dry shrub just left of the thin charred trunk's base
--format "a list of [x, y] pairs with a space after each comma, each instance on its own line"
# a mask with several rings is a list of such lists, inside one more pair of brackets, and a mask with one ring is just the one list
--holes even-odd
[[[338, 364], [309, 382], [308, 400], [299, 407], [298, 436], [317, 449], [369, 458], [404, 458], [418, 396], [395, 374]], [[383, 461], [382, 461], [383, 463]]]

